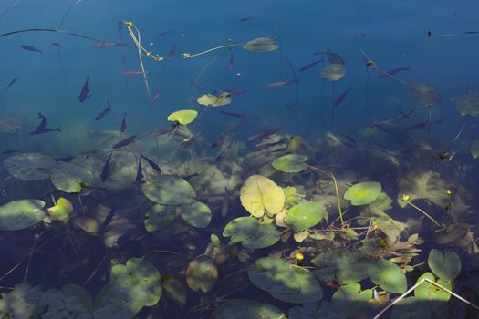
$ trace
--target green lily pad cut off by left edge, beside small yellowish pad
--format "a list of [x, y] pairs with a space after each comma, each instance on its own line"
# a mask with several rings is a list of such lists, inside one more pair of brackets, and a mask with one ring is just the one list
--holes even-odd
[[45, 201], [10, 201], [0, 206], [0, 231], [18, 231], [40, 222], [45, 217]]

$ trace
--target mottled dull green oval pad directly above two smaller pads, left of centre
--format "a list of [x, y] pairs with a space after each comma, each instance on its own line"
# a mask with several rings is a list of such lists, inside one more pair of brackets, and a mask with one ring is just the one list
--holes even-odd
[[141, 191], [150, 200], [163, 205], [190, 204], [196, 197], [192, 185], [173, 175], [156, 175], [141, 185]]

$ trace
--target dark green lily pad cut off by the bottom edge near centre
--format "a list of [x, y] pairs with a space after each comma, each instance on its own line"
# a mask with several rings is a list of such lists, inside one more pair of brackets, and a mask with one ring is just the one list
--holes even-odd
[[286, 319], [286, 314], [271, 304], [254, 300], [230, 300], [214, 309], [213, 319]]

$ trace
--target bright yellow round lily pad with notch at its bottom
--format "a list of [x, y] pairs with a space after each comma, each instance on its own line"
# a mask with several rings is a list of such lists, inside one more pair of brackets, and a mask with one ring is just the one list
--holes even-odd
[[285, 193], [270, 180], [261, 175], [252, 175], [243, 184], [240, 200], [246, 211], [256, 218], [263, 217], [265, 210], [277, 214], [285, 205]]

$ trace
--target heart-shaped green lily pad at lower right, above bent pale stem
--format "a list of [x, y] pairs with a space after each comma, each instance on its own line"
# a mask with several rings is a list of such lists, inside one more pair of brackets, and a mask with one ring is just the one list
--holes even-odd
[[432, 249], [427, 260], [432, 273], [445, 281], [452, 281], [461, 272], [461, 259], [453, 250], [441, 252]]

